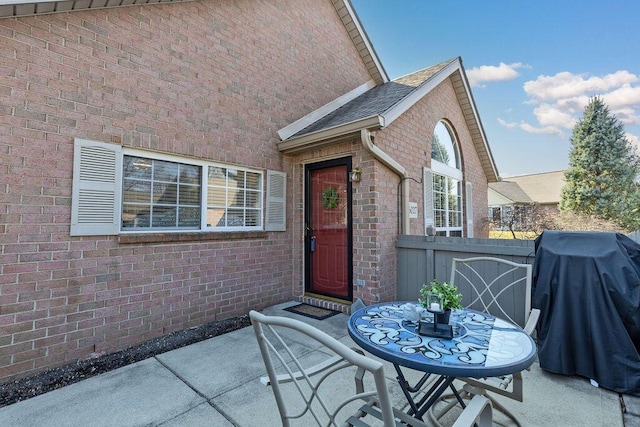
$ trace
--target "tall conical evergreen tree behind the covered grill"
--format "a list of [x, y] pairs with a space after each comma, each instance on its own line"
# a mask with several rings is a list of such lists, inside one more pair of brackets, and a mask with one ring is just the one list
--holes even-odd
[[573, 128], [560, 209], [640, 228], [640, 163], [620, 121], [593, 97]]

